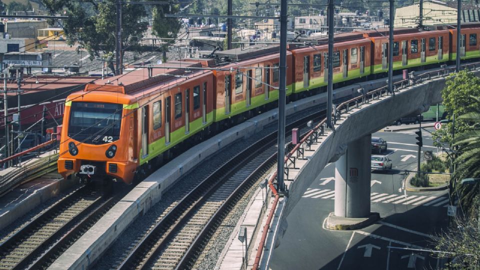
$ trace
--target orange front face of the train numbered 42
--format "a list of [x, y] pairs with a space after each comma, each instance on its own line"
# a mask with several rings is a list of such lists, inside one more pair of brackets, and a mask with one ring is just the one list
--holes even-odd
[[67, 97], [57, 162], [63, 177], [76, 174], [86, 182], [117, 180], [127, 184], [133, 180], [137, 167], [134, 113], [138, 105], [116, 87], [88, 84], [85, 91]]

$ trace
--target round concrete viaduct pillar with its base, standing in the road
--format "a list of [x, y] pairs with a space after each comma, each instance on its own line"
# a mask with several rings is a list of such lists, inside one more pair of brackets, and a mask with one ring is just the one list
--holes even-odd
[[327, 219], [330, 229], [356, 229], [376, 220], [370, 212], [371, 134], [347, 145], [335, 161], [335, 208]]

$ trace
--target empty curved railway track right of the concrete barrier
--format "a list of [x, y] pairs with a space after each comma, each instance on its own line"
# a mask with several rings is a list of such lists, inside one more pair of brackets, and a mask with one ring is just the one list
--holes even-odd
[[[320, 113], [309, 115], [287, 128], [305, 124], [312, 117], [319, 119], [319, 116]], [[273, 132], [258, 140], [207, 176], [176, 205], [169, 206], [166, 214], [116, 268], [191, 268], [222, 217], [274, 165], [276, 139], [276, 132]]]

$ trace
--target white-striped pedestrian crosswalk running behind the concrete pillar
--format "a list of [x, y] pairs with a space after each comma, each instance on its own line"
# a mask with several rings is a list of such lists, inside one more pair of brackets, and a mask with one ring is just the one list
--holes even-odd
[[[303, 193], [303, 198], [324, 198], [334, 199], [335, 190], [322, 188], [308, 188]], [[423, 205], [435, 207], [447, 207], [450, 204], [450, 199], [447, 196], [427, 196], [427, 195], [404, 195], [404, 194], [389, 194], [389, 193], [370, 193], [371, 202], [383, 202], [403, 205]]]

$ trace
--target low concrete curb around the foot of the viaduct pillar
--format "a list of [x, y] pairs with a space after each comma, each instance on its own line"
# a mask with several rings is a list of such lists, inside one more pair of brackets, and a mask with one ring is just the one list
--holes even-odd
[[366, 227], [380, 219], [380, 214], [377, 212], [370, 212], [368, 217], [339, 217], [333, 212], [328, 214], [326, 218], [325, 227], [333, 230], [354, 230]]

